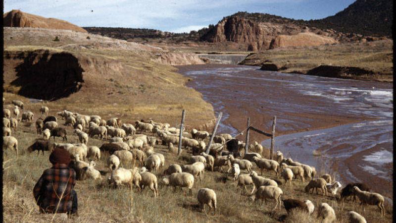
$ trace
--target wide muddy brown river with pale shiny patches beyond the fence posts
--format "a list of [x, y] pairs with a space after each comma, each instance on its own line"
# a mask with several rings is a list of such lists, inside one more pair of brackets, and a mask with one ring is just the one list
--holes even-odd
[[[284, 74], [243, 65], [187, 65], [179, 72], [223, 117], [219, 133], [236, 135], [251, 124], [270, 132], [275, 150], [334, 173], [343, 186], [365, 182], [393, 196], [393, 85]], [[245, 140], [244, 136], [238, 136]], [[250, 140], [269, 148], [268, 137]], [[250, 141], [250, 142], [252, 142]], [[321, 156], [313, 156], [316, 150]]]

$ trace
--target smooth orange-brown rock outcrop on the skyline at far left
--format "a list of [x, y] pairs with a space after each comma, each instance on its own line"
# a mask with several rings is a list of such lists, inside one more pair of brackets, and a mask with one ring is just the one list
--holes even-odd
[[47, 28], [47, 29], [66, 29], [76, 32], [86, 33], [87, 31], [70, 22], [55, 19], [45, 18], [38, 15], [29, 14], [20, 10], [12, 10], [3, 15], [3, 26], [5, 27], [32, 27], [32, 28]]

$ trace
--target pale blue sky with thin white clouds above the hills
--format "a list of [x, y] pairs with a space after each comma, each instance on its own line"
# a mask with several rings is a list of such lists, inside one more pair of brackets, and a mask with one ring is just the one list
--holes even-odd
[[295, 19], [319, 19], [354, 0], [4, 0], [4, 12], [20, 9], [79, 26], [150, 28], [189, 32], [238, 11]]

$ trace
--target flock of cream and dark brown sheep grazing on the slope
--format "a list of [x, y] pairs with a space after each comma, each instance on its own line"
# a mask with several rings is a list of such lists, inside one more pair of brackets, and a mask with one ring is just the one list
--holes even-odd
[[[3, 98], [4, 104], [4, 98]], [[11, 136], [11, 131], [17, 130], [19, 121], [33, 122], [34, 114], [31, 111], [24, 111], [19, 119], [20, 109], [23, 109], [23, 103], [12, 101], [14, 109], [11, 111], [4, 109], [3, 117], [3, 150], [13, 149], [18, 156], [18, 141]], [[49, 108], [41, 107], [40, 112], [48, 115]], [[70, 153], [73, 158], [71, 167], [76, 170], [77, 178], [80, 180], [86, 178], [102, 179], [103, 171], [95, 169], [95, 160], [100, 160], [101, 153], [107, 153], [107, 166], [111, 172], [107, 180], [115, 187], [128, 184], [135, 186], [139, 190], [145, 187], [150, 188], [155, 198], [158, 197], [158, 179], [155, 173], [164, 167], [165, 158], [161, 153], [154, 150], [155, 145], [162, 144], [168, 147], [170, 153], [177, 153], [179, 144], [180, 129], [171, 127], [167, 123], [154, 122], [153, 120], [136, 121], [135, 124], [122, 123], [118, 118], [102, 119], [98, 115], [82, 115], [71, 111], [60, 111], [57, 115], [64, 119], [64, 125], [71, 125], [74, 128], [73, 134], [78, 136], [80, 143], [67, 143], [67, 131], [64, 127], [58, 126], [58, 120], [55, 116], [47, 116], [45, 119], [36, 120], [37, 134], [42, 134], [43, 139], [38, 139], [30, 147], [29, 152], [40, 150], [51, 151], [54, 148], [63, 148]], [[137, 134], [137, 133], [140, 134]], [[143, 134], [146, 133], [146, 134]], [[230, 134], [220, 134], [214, 137], [214, 143], [211, 144], [209, 154], [205, 153], [206, 143], [210, 134], [206, 131], [193, 129], [191, 132], [182, 132], [182, 146], [190, 150], [194, 156], [190, 157], [190, 164], [179, 165], [171, 164], [164, 170], [165, 176], [161, 179], [164, 185], [173, 186], [174, 190], [179, 187], [188, 188], [192, 194], [195, 179], [202, 179], [205, 169], [214, 171], [217, 168], [222, 172], [223, 167], [227, 167], [227, 174], [231, 174], [236, 181], [236, 186], [244, 187], [252, 185], [250, 197], [253, 201], [261, 199], [274, 199], [275, 207], [273, 210], [285, 207], [289, 213], [291, 210], [305, 210], [309, 215], [314, 212], [314, 205], [310, 200], [285, 199], [282, 200], [282, 189], [278, 186], [282, 181], [278, 179], [279, 175], [284, 179], [284, 184], [291, 185], [292, 180], [297, 177], [305, 182], [306, 193], [318, 189], [322, 194], [327, 193], [336, 196], [338, 189], [342, 187], [338, 181], [333, 182], [329, 174], [323, 174], [321, 177], [316, 176], [316, 169], [305, 164], [293, 161], [291, 158], [285, 159], [283, 154], [278, 151], [276, 160], [268, 160], [261, 157], [262, 146], [257, 142], [249, 145], [249, 152], [243, 154], [245, 143], [233, 138]], [[53, 137], [54, 141], [49, 139]], [[55, 137], [62, 138], [66, 143], [55, 143]], [[106, 140], [100, 147], [87, 146], [89, 138], [98, 138]], [[87, 163], [87, 159], [90, 161]], [[138, 167], [135, 167], [135, 163]], [[252, 170], [253, 163], [261, 170], [273, 171], [276, 178], [265, 178]], [[134, 164], [133, 168], [127, 169], [120, 167], [120, 164]], [[243, 173], [245, 170], [247, 173]], [[255, 193], [254, 193], [255, 191]], [[376, 205], [381, 211], [381, 216], [385, 215], [384, 197], [378, 193], [370, 192], [370, 189], [364, 183], [349, 183], [341, 190], [340, 197], [344, 201], [348, 196], [357, 196], [361, 202], [364, 213], [365, 205]], [[202, 211], [207, 205], [214, 209], [216, 213], [217, 198], [214, 190], [201, 188], [197, 193], [198, 203]], [[366, 223], [366, 220], [356, 212], [348, 212], [351, 223]], [[323, 222], [334, 222], [336, 215], [333, 208], [327, 203], [321, 203], [317, 207], [317, 217]]]

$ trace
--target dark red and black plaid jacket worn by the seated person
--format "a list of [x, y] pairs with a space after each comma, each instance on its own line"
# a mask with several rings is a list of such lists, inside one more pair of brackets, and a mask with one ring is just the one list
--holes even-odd
[[71, 211], [70, 192], [75, 184], [76, 172], [65, 164], [55, 164], [44, 170], [33, 188], [33, 195], [40, 211], [45, 213], [55, 213], [56, 210], [56, 213]]

